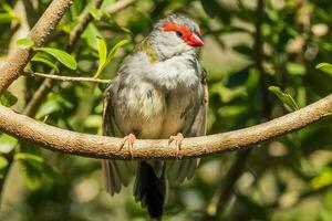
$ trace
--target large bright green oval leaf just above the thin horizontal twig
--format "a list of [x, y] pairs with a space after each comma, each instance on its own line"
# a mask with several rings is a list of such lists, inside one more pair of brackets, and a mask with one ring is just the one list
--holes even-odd
[[71, 70], [77, 69], [77, 63], [75, 59], [69, 53], [53, 48], [37, 48], [35, 51], [42, 51], [48, 54], [54, 56], [58, 61], [60, 61], [63, 65], [68, 66]]

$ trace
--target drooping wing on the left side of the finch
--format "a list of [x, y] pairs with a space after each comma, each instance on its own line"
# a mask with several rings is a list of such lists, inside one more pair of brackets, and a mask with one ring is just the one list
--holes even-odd
[[[114, 120], [111, 86], [104, 95], [103, 109], [103, 135], [111, 137], [123, 137]], [[127, 186], [133, 175], [133, 164], [124, 160], [102, 160], [102, 168], [105, 176], [105, 187], [112, 196], [121, 191], [122, 185]]]

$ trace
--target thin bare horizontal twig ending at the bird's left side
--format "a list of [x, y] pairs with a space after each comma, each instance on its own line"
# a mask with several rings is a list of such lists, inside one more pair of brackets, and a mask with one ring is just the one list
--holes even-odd
[[63, 76], [63, 75], [55, 75], [55, 74], [44, 74], [44, 73], [28, 73], [24, 72], [28, 76], [40, 76], [43, 78], [51, 78], [51, 80], [58, 80], [63, 82], [91, 82], [91, 83], [103, 83], [107, 84], [111, 82], [111, 80], [100, 80], [100, 78], [93, 78], [93, 77], [82, 77], [82, 76]]

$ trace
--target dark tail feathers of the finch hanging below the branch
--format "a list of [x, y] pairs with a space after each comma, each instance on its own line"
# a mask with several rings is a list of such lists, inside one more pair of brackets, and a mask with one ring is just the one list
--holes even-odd
[[166, 194], [164, 171], [158, 178], [154, 169], [145, 161], [139, 161], [134, 185], [136, 201], [146, 207], [151, 218], [162, 218]]

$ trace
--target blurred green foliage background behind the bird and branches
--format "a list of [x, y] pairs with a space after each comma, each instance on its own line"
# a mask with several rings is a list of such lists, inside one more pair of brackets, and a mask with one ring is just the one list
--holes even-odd
[[[282, 116], [332, 92], [332, 74], [315, 69], [332, 62], [331, 0], [114, 0], [101, 9], [74, 0], [46, 46], [66, 50], [69, 34], [90, 13], [71, 50], [73, 71], [46, 53], [29, 64], [49, 73], [90, 76], [98, 69], [97, 38], [118, 49], [101, 72], [112, 78], [122, 59], [153, 24], [169, 13], [196, 20], [208, 72], [208, 134], [222, 133]], [[50, 0], [0, 3], [0, 65], [46, 9]], [[110, 13], [113, 12], [113, 13]], [[43, 60], [43, 61], [41, 61]], [[46, 61], [44, 61], [46, 60]], [[56, 70], [55, 69], [55, 70]], [[54, 72], [54, 71], [53, 71]], [[1, 103], [22, 112], [42, 78], [21, 77]], [[104, 84], [52, 82], [37, 105], [35, 118], [61, 128], [101, 134]], [[270, 87], [276, 86], [276, 87]], [[270, 90], [269, 90], [270, 87]], [[273, 90], [274, 88], [274, 90]], [[280, 90], [281, 91], [280, 91]], [[276, 96], [279, 95], [279, 96]], [[172, 186], [165, 220], [332, 220], [332, 118], [252, 150], [205, 157], [193, 180]], [[100, 160], [62, 155], [0, 135], [0, 220], [146, 220], [132, 185], [111, 198], [103, 189]]]

